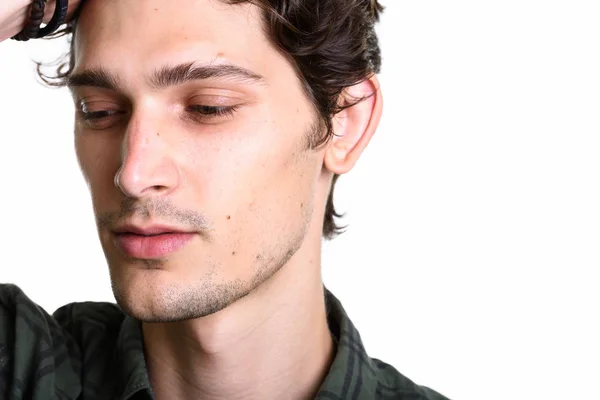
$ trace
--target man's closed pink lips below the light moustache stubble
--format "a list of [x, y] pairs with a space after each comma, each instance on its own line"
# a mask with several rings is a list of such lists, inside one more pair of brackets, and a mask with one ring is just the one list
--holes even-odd
[[165, 257], [184, 247], [196, 235], [162, 226], [126, 226], [116, 229], [114, 234], [119, 249], [126, 256], [139, 259]]

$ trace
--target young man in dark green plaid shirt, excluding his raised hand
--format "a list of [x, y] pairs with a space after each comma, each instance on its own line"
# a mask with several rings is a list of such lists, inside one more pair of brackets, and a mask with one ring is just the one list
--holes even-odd
[[444, 399], [371, 359], [321, 281], [375, 133], [376, 0], [87, 0], [75, 142], [117, 305], [0, 285], [0, 397]]

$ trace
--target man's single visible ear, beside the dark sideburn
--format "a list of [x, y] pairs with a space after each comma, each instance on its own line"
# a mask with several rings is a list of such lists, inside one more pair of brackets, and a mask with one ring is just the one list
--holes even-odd
[[338, 175], [354, 167], [379, 125], [383, 97], [375, 75], [346, 88], [340, 97], [340, 105], [352, 104], [361, 98], [362, 101], [333, 117], [334, 137], [327, 147], [324, 163], [329, 171]]

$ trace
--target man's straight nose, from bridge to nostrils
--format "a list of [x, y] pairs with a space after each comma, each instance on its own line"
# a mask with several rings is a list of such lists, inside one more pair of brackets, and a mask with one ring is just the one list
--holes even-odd
[[[128, 197], [164, 196], [180, 183], [169, 133], [156, 118], [133, 115], [123, 138], [115, 185]], [[171, 142], [173, 142], [171, 140]]]

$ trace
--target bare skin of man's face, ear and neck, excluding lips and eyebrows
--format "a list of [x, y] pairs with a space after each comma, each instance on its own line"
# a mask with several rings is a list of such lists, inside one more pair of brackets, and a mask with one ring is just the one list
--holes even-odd
[[[375, 132], [376, 78], [348, 89], [375, 95], [336, 116], [337, 137], [314, 150], [316, 113], [254, 6], [88, 0], [75, 54], [73, 76], [103, 70], [114, 81], [73, 79], [75, 147], [115, 298], [143, 321], [156, 397], [313, 396], [334, 354], [320, 277], [325, 202], [333, 173], [348, 172]], [[192, 64], [261, 79], [152, 79]], [[197, 105], [235, 110], [203, 116]], [[195, 234], [166, 257], [135, 259], [115, 242], [126, 223]]]

